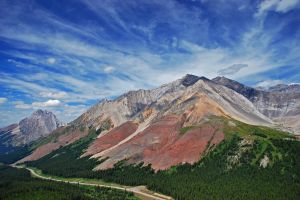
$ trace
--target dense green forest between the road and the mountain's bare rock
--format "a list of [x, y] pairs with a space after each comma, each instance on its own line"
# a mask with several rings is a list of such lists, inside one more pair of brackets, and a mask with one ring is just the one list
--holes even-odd
[[[228, 129], [228, 127], [225, 127]], [[234, 132], [238, 131], [238, 132]], [[246, 133], [254, 139], [247, 148], [240, 146]], [[226, 140], [194, 165], [185, 164], [154, 172], [151, 166], [126, 165], [92, 171], [97, 160], [79, 158], [95, 137], [63, 147], [44, 158], [27, 163], [44, 173], [64, 177], [97, 178], [125, 185], [147, 185], [149, 189], [178, 200], [196, 199], [298, 199], [300, 196], [300, 142], [279, 131], [264, 127], [238, 125], [226, 130]], [[238, 162], [230, 160], [240, 149]], [[267, 155], [268, 167], [259, 167]]]

